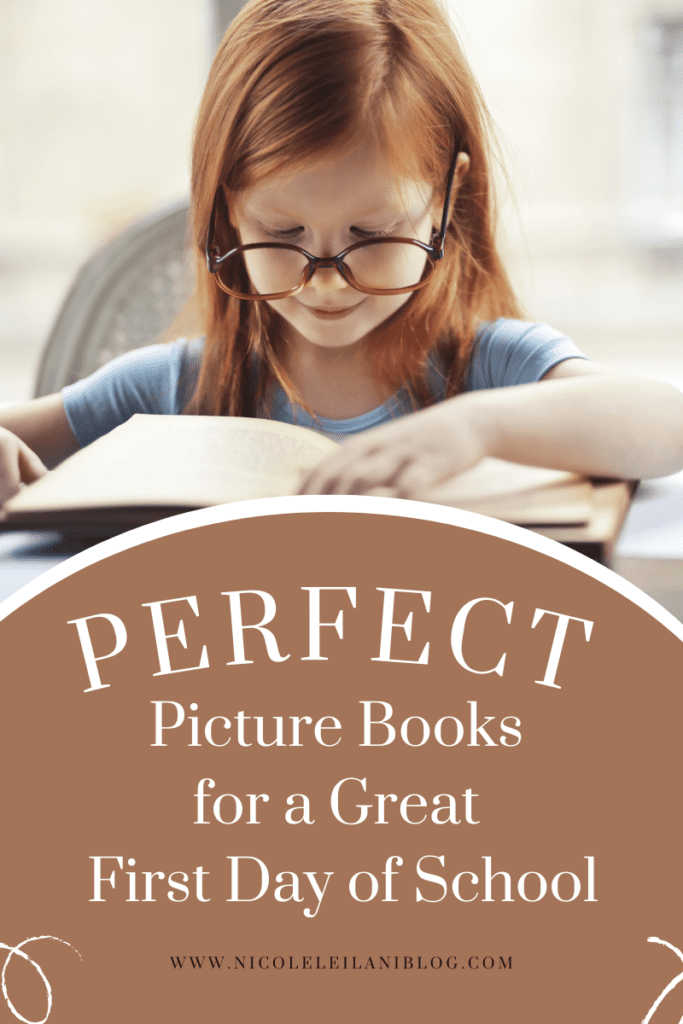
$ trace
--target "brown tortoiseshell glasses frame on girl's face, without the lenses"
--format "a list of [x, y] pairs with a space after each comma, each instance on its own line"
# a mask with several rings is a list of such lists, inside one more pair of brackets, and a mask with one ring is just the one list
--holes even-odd
[[[457, 145], [449, 168], [440, 227], [438, 230], [434, 229], [432, 231], [430, 244], [420, 242], [418, 239], [403, 239], [398, 237], [391, 237], [388, 239], [362, 239], [360, 242], [354, 242], [353, 245], [348, 246], [346, 249], [342, 250], [342, 252], [337, 253], [336, 256], [313, 256], [312, 253], [306, 252], [306, 250], [302, 249], [300, 246], [292, 245], [289, 242], [250, 242], [244, 246], [236, 246], [233, 249], [230, 249], [228, 252], [221, 255], [220, 250], [214, 242], [216, 219], [218, 215], [218, 197], [221, 190], [220, 186], [218, 186], [213, 200], [211, 219], [209, 220], [209, 229], [207, 231], [206, 241], [206, 261], [209, 273], [216, 274], [216, 283], [218, 287], [227, 295], [231, 295], [237, 299], [246, 299], [248, 301], [255, 302], [288, 299], [292, 298], [294, 295], [298, 295], [299, 292], [306, 287], [315, 271], [321, 267], [323, 269], [334, 268], [338, 270], [347, 285], [350, 285], [356, 292], [362, 292], [366, 295], [405, 295], [408, 292], [417, 292], [420, 288], [424, 288], [431, 278], [438, 261], [443, 259], [445, 232], [449, 226], [451, 213], [451, 195], [453, 193], [453, 182], [456, 176], [456, 166], [458, 163], [459, 152], [460, 146]], [[385, 246], [392, 244], [417, 246], [418, 249], [421, 249], [426, 254], [429, 262], [426, 264], [425, 269], [427, 272], [423, 274], [422, 280], [419, 281], [417, 285], [409, 285], [407, 288], [364, 288], [358, 285], [353, 278], [353, 272], [350, 267], [346, 266], [344, 263], [348, 254], [354, 252], [356, 249], [366, 249], [370, 246]], [[292, 252], [299, 253], [307, 260], [307, 266], [304, 268], [301, 281], [295, 288], [290, 288], [287, 292], [274, 292], [270, 295], [245, 295], [242, 292], [236, 292], [233, 289], [228, 288], [220, 279], [221, 267], [226, 260], [230, 259], [232, 256], [238, 253], [248, 252], [250, 249], [288, 249]]]

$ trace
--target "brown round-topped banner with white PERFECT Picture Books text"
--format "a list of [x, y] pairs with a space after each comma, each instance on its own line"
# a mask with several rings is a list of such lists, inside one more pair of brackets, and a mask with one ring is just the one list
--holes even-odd
[[680, 1020], [683, 646], [581, 568], [264, 515], [0, 644], [1, 1024]]

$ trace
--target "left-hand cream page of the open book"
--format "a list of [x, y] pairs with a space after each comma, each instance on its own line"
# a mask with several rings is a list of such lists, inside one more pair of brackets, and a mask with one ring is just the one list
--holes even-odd
[[136, 415], [25, 487], [5, 510], [204, 507], [290, 495], [336, 447], [313, 430], [272, 420]]

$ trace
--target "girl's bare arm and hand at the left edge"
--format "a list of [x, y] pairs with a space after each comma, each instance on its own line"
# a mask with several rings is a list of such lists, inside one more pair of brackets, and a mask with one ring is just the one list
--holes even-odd
[[0, 409], [0, 504], [78, 447], [60, 394]]

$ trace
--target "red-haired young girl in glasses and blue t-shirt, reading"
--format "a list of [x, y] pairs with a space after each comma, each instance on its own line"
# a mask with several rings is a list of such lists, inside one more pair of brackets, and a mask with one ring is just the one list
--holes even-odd
[[308, 494], [424, 497], [484, 456], [681, 468], [683, 395], [522, 321], [496, 250], [487, 128], [437, 0], [250, 0], [195, 137], [204, 337], [3, 411], [0, 500], [136, 412], [272, 417], [344, 440]]

